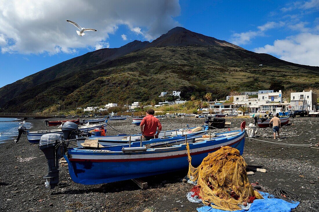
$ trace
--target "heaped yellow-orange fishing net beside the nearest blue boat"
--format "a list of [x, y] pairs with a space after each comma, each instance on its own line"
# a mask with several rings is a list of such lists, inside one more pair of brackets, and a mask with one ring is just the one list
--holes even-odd
[[[244, 158], [239, 150], [224, 146], [209, 153], [197, 167], [191, 165], [189, 144], [187, 143], [189, 158], [188, 177], [197, 180], [197, 188], [203, 202], [221, 210], [238, 210], [238, 205], [245, 205], [253, 197], [263, 199], [254, 191], [248, 181]], [[254, 198], [253, 198], [254, 199]]]

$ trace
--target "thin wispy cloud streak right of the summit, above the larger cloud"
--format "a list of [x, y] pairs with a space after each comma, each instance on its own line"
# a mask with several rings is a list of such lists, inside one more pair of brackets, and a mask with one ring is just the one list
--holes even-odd
[[265, 36], [265, 31], [276, 28], [276, 27], [281, 27], [284, 26], [285, 23], [280, 21], [280, 22], [267, 22], [266, 24], [262, 26], [257, 26], [258, 30], [257, 31], [248, 31], [248, 32], [243, 32], [243, 33], [233, 33], [231, 42], [236, 44], [236, 45], [241, 45], [241, 44], [247, 44], [252, 40], [253, 38], [257, 36]]

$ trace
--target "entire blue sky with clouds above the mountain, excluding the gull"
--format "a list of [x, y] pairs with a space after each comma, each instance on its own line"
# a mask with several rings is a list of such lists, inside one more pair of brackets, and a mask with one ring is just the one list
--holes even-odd
[[[98, 32], [79, 37], [65, 19]], [[99, 48], [152, 41], [175, 26], [250, 51], [319, 66], [319, 0], [4, 0], [0, 87]]]

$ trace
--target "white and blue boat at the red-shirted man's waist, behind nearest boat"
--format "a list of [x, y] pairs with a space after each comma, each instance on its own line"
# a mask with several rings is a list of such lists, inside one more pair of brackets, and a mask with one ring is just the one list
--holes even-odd
[[[175, 129], [167, 130], [159, 133], [158, 138], [153, 138], [147, 142], [157, 143], [157, 142], [167, 142], [175, 141], [181, 139], [182, 137], [189, 136], [198, 136], [205, 135], [207, 133], [208, 127], [197, 127], [197, 128], [188, 128], [188, 129]], [[99, 144], [102, 146], [114, 146], [114, 145], [124, 145], [128, 144], [129, 141], [135, 142], [141, 140], [142, 134], [136, 135], [108, 135], [108, 136], [92, 136], [89, 139], [97, 139]], [[143, 142], [144, 143], [144, 142]], [[82, 147], [81, 141], [77, 142], [79, 147]]]

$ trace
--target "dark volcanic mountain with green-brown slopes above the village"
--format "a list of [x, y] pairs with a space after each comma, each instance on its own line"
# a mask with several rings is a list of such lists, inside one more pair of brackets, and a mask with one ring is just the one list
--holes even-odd
[[[52, 73], [56, 75], [48, 76]], [[202, 98], [206, 92], [219, 99], [230, 89], [268, 89], [275, 79], [286, 88], [319, 86], [318, 73], [318, 67], [257, 54], [178, 27], [151, 43], [133, 41], [117, 49], [100, 49], [45, 69], [20, 80], [32, 81], [24, 91], [14, 93], [5, 86], [0, 95], [6, 100], [0, 107], [55, 112], [58, 101], [60, 109], [74, 108], [75, 102], [82, 107], [131, 103], [158, 99], [167, 90], [181, 90], [185, 99], [191, 94]], [[19, 87], [19, 81], [9, 87], [14, 86]]]

